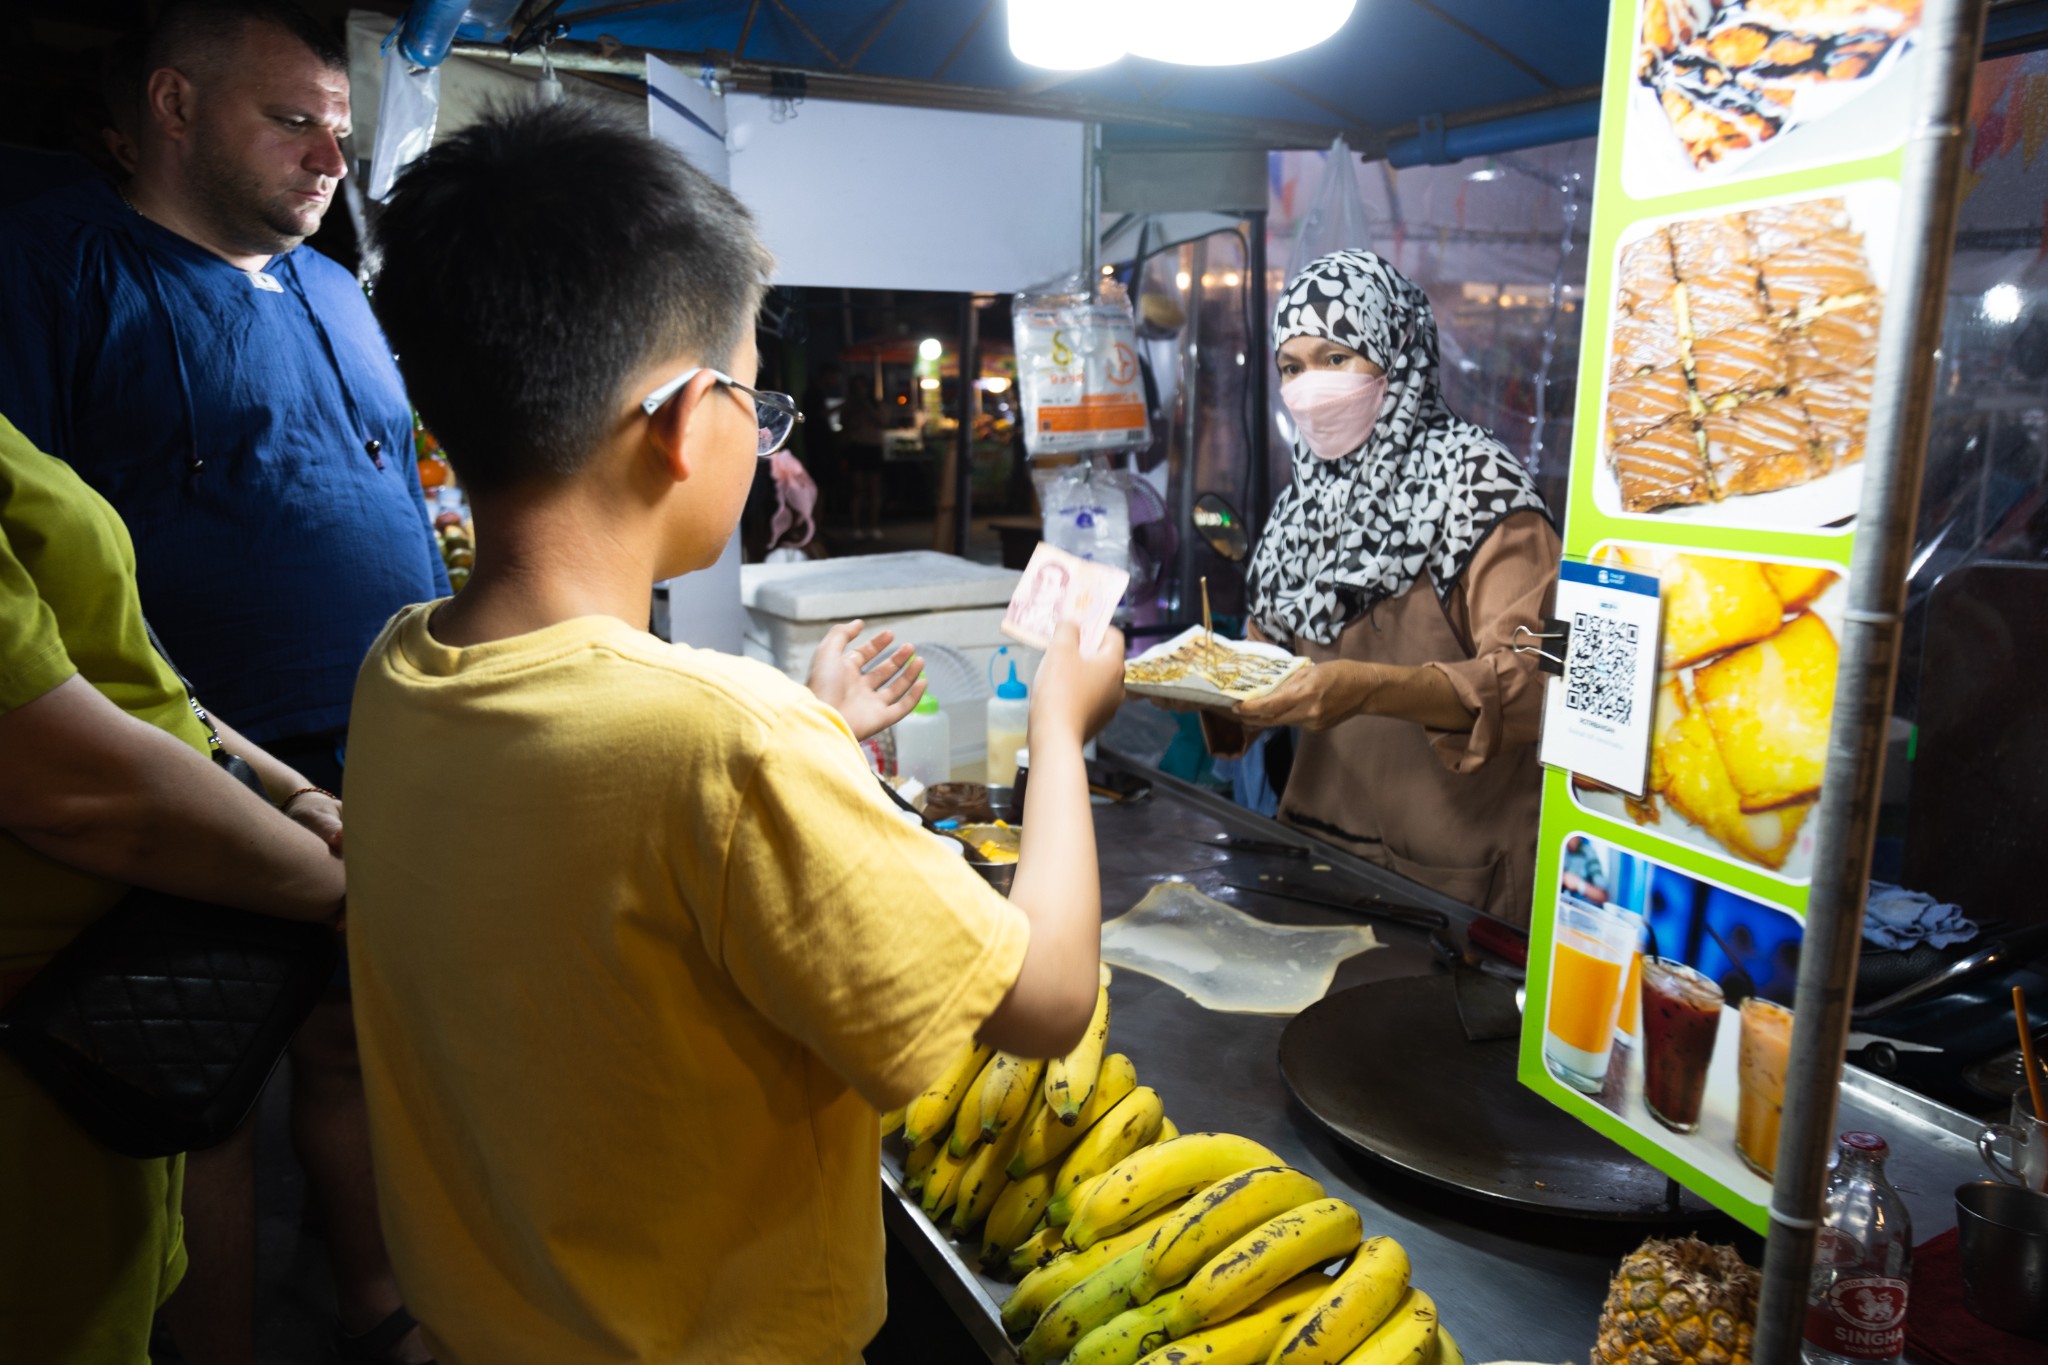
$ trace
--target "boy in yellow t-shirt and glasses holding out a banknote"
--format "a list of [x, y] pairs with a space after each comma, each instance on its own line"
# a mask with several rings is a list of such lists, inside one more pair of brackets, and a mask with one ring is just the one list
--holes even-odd
[[[377, 309], [477, 520], [459, 598], [356, 684], [348, 919], [391, 1259], [444, 1365], [852, 1361], [883, 1320], [877, 1109], [973, 1038], [1051, 1056], [1094, 1005], [1081, 743], [1122, 641], [1063, 626], [1006, 902], [897, 817], [819, 696], [647, 634], [756, 454], [768, 258], [686, 162], [573, 106], [436, 145]], [[885, 667], [893, 673], [893, 667]], [[852, 724], [850, 724], [852, 720]]]

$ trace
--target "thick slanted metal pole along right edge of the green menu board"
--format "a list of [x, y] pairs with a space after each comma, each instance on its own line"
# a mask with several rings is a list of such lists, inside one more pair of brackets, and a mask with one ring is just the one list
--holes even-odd
[[1843, 612], [1835, 720], [1821, 788], [1812, 894], [1800, 948], [1792, 1054], [1786, 1070], [1784, 1130], [1772, 1185], [1772, 1224], [1763, 1246], [1763, 1302], [1757, 1312], [1755, 1363], [1794, 1365], [1806, 1316], [1827, 1158], [1835, 1138], [1835, 1099], [1847, 1050], [1849, 995], [1862, 948], [1870, 845], [1884, 776], [1884, 733], [1898, 634], [1913, 559], [1927, 422], [1933, 409], [1933, 350], [1956, 237], [1962, 133], [1970, 78], [1982, 47], [1985, 0], [1927, 0], [1921, 16], [1921, 63], [1927, 70], [1913, 111], [1901, 174], [1898, 252], [1888, 319], [1878, 350], [1864, 501], [1849, 561], [1849, 608]]

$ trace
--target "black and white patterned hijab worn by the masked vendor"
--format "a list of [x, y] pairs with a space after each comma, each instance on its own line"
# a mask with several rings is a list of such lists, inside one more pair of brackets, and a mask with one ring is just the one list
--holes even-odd
[[1251, 557], [1260, 628], [1278, 643], [1335, 645], [1423, 569], [1444, 598], [1495, 524], [1548, 510], [1507, 446], [1444, 407], [1430, 297], [1391, 264], [1372, 252], [1311, 262], [1274, 313], [1274, 350], [1296, 336], [1329, 338], [1386, 370], [1386, 401], [1360, 450], [1321, 460], [1294, 440], [1294, 483]]

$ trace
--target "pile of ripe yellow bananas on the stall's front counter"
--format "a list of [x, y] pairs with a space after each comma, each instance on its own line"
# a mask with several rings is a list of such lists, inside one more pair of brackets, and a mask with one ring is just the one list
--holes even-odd
[[1104, 968], [1073, 1052], [971, 1048], [883, 1117], [926, 1216], [1018, 1277], [1024, 1365], [1464, 1363], [1399, 1242], [1249, 1138], [1180, 1134], [1108, 1031]]

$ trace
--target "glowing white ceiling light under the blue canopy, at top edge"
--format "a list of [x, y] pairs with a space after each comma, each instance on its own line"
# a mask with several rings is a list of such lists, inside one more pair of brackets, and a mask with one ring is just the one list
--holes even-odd
[[1180, 65], [1245, 65], [1315, 47], [1358, 0], [1008, 0], [1010, 51], [1055, 72], [1124, 53]]

